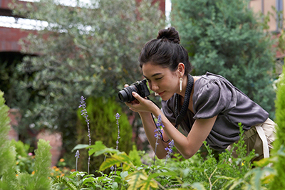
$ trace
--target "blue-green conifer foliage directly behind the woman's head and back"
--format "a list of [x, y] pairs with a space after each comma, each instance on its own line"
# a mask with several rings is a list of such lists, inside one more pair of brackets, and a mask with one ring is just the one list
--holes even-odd
[[180, 31], [195, 75], [224, 76], [274, 118], [274, 40], [249, 1], [173, 0], [172, 26]]

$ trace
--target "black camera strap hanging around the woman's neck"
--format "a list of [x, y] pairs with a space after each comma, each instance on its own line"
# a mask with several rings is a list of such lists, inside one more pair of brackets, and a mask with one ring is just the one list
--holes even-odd
[[180, 125], [180, 123], [182, 122], [182, 120], [185, 117], [185, 114], [187, 112], [193, 85], [194, 85], [194, 78], [192, 77], [192, 75], [188, 74], [188, 82], [187, 82], [185, 97], [184, 97], [183, 105], [181, 107], [179, 114], [178, 114], [178, 104], [180, 102], [179, 101], [180, 95], [176, 96], [176, 101], [175, 101], [175, 115], [177, 115], [176, 121], [175, 121], [175, 128], [176, 129], [178, 128], [178, 125]]

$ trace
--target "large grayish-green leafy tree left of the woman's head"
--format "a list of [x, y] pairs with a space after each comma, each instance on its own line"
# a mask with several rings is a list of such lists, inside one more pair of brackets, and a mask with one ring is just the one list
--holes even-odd
[[60, 130], [63, 139], [75, 136], [81, 95], [108, 99], [125, 83], [140, 80], [140, 49], [165, 21], [149, 0], [77, 1], [75, 6], [41, 0], [25, 7], [14, 4], [14, 9], [15, 14], [45, 21], [21, 43], [24, 53], [36, 55], [24, 57], [17, 66], [31, 76], [21, 80], [21, 88], [36, 94], [25, 105], [23, 121], [34, 129]]

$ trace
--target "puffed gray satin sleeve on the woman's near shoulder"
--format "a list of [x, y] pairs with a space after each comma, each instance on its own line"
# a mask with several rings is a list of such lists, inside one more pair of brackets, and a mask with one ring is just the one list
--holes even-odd
[[236, 105], [237, 91], [231, 83], [216, 79], [204, 81], [202, 84], [195, 83], [193, 95], [195, 120], [226, 114]]

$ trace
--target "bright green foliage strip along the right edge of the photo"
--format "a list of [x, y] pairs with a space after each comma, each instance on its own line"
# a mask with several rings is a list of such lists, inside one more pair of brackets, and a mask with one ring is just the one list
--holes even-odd
[[283, 73], [280, 75], [280, 80], [277, 85], [276, 93], [276, 140], [274, 141], [274, 153], [278, 154], [278, 159], [274, 164], [277, 174], [272, 183], [272, 189], [284, 189], [285, 181], [285, 164], [284, 164], [284, 152], [280, 152], [280, 149], [284, 150], [285, 144], [285, 66], [283, 66]]

